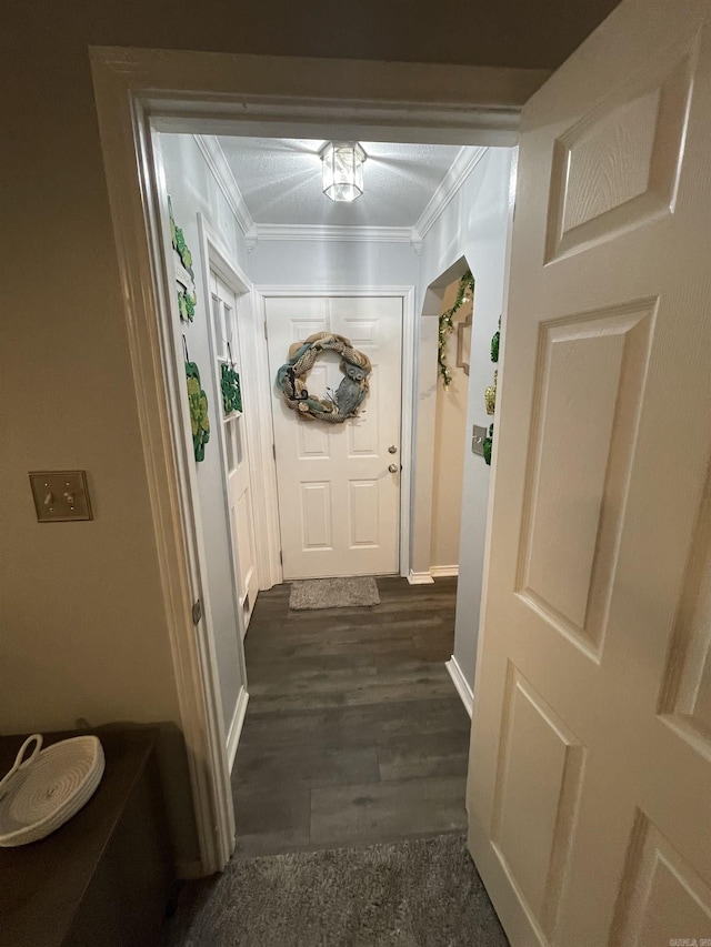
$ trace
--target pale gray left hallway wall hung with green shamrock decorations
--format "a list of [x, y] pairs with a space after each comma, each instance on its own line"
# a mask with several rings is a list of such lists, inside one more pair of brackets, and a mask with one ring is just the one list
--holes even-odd
[[221, 392], [213, 370], [208, 335], [211, 301], [203, 290], [202, 245], [199, 240], [198, 214], [220, 236], [230, 259], [240, 269], [247, 265], [247, 245], [237, 219], [212, 174], [194, 138], [188, 134], [161, 134], [161, 151], [166, 187], [171, 198], [176, 224], [182, 228], [186, 243], [192, 253], [196, 274], [196, 318], [191, 323], [174, 326], [180, 346], [183, 335], [190, 361], [200, 370], [202, 387], [208, 395], [211, 436], [204, 449], [204, 460], [196, 463], [202, 540], [206, 553], [206, 577], [210, 596], [210, 617], [222, 698], [226, 736], [237, 709], [242, 685], [240, 674], [239, 627], [236, 625], [233, 598], [233, 563], [227, 518], [223, 467], [220, 456], [218, 427], [221, 424]]

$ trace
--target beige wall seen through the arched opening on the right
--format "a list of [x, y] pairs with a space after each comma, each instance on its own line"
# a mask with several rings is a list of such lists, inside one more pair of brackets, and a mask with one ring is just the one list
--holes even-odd
[[[442, 312], [454, 304], [458, 288], [459, 280], [447, 288]], [[470, 312], [471, 304], [464, 304], [458, 311], [454, 332], [447, 342], [447, 364], [452, 372], [452, 383], [447, 391], [438, 376], [430, 567], [459, 565], [469, 376], [463, 369], [457, 367], [457, 325]]]

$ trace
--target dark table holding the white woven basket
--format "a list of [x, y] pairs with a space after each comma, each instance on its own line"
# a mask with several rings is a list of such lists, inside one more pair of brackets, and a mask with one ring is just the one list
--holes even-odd
[[[91, 733], [106, 756], [91, 799], [47, 838], [0, 848], [1, 947], [160, 943], [174, 879], [156, 762], [158, 732]], [[46, 734], [43, 745], [77, 735]], [[0, 776], [23, 738], [0, 737]]]

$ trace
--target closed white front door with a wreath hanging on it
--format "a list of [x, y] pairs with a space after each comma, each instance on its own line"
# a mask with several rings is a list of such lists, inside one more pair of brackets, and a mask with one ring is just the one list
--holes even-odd
[[[346, 335], [372, 363], [359, 416], [339, 425], [299, 417], [274, 387], [284, 578], [397, 573], [402, 299], [272, 296], [266, 309], [272, 381], [289, 346], [314, 332]], [[339, 363], [336, 353], [321, 354], [309, 391], [336, 391]]]

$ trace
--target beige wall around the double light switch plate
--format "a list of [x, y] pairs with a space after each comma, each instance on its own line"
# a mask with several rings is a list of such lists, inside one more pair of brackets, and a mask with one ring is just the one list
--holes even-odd
[[[612, 6], [3, 4], [3, 732], [178, 719], [88, 46], [551, 67]], [[27, 472], [74, 467], [96, 520], [38, 525]]]

